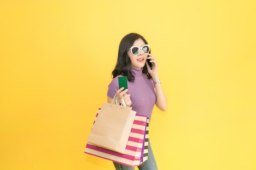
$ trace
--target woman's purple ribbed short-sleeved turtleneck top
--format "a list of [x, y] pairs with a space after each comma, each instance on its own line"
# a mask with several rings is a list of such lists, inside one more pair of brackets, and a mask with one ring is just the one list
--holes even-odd
[[[142, 73], [142, 69], [136, 69], [131, 67], [130, 71], [134, 75], [134, 82], [128, 81], [128, 92], [130, 94], [130, 99], [132, 101], [132, 110], [137, 112], [137, 115], [145, 115], [151, 119], [152, 111], [156, 102], [156, 95], [154, 91], [153, 79], [148, 79], [145, 73]], [[119, 75], [112, 79], [108, 86], [109, 97], [114, 98], [115, 93], [119, 89], [118, 77]]]

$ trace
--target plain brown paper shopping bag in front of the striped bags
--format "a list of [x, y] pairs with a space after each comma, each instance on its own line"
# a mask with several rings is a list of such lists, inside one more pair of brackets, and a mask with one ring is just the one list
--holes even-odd
[[124, 154], [136, 112], [131, 107], [103, 103], [99, 113], [88, 143]]

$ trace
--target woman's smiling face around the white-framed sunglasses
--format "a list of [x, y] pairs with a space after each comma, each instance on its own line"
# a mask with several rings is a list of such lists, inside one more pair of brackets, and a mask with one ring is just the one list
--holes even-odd
[[[145, 42], [141, 38], [135, 40], [135, 42], [132, 44], [132, 46], [138, 47], [141, 47], [143, 45], [145, 45]], [[142, 53], [141, 50], [139, 51], [139, 55], [132, 55], [132, 52], [130, 50], [127, 52], [127, 54], [131, 60], [133, 68], [141, 69], [145, 66], [148, 54]]]

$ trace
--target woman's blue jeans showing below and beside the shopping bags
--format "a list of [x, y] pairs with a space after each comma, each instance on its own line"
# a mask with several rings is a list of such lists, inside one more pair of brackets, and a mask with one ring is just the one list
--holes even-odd
[[[135, 167], [126, 166], [120, 163], [113, 162], [116, 170], [135, 170]], [[148, 141], [148, 160], [138, 166], [139, 170], [158, 170], [155, 157]]]

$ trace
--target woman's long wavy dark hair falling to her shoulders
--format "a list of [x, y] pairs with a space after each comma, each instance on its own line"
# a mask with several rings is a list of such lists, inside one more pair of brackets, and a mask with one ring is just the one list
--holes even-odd
[[[129, 33], [121, 40], [119, 44], [117, 64], [112, 71], [113, 78], [117, 77], [118, 75], [123, 75], [127, 76], [128, 81], [134, 81], [134, 75], [132, 75], [130, 71], [132, 63], [127, 52], [132, 47], [132, 44], [135, 42], [135, 40], [138, 40], [139, 38], [141, 38], [145, 44], [148, 44], [145, 38], [137, 33]], [[151, 75], [148, 73], [146, 64], [142, 69], [142, 73], [145, 73], [148, 76], [148, 79], [152, 78]]]

